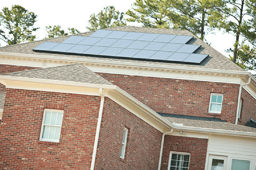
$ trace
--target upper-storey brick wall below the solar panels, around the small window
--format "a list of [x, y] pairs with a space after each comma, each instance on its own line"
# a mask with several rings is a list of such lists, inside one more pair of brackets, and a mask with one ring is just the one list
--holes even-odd
[[[235, 122], [238, 84], [98, 74], [158, 113], [216, 117]], [[208, 113], [212, 92], [224, 96], [221, 114]]]

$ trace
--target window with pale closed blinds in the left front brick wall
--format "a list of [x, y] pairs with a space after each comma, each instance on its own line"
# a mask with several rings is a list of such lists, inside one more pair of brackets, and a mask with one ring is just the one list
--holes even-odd
[[44, 109], [40, 141], [59, 142], [63, 110]]

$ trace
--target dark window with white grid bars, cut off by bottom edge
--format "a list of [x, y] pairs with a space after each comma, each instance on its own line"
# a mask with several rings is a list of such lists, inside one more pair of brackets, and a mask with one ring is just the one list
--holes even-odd
[[170, 152], [168, 170], [188, 170], [189, 153]]

